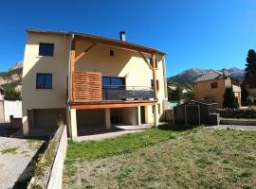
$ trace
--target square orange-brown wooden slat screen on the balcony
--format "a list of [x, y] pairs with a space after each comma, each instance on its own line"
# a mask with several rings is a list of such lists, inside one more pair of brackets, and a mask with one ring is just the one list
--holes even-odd
[[102, 100], [102, 74], [96, 72], [73, 73], [74, 102]]

